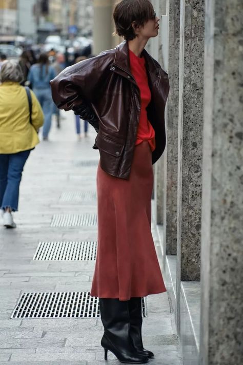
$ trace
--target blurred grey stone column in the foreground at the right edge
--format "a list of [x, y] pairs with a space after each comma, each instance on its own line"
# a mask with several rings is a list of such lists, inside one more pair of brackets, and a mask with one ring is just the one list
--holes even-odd
[[200, 365], [243, 362], [241, 0], [206, 0]]

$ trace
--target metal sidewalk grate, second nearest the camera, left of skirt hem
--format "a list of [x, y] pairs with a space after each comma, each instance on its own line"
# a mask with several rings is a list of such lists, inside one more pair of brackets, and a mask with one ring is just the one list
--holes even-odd
[[33, 260], [91, 261], [97, 242], [39, 242]]

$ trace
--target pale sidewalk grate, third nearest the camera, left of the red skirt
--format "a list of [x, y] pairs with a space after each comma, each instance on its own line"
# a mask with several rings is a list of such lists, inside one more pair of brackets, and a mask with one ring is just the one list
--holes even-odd
[[51, 227], [96, 226], [97, 214], [54, 214]]

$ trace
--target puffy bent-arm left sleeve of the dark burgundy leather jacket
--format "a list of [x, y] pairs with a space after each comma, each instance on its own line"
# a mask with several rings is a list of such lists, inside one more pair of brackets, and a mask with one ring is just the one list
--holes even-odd
[[67, 67], [51, 80], [52, 98], [59, 109], [74, 110], [97, 131], [98, 119], [92, 108], [98, 90], [110, 71], [106, 53]]

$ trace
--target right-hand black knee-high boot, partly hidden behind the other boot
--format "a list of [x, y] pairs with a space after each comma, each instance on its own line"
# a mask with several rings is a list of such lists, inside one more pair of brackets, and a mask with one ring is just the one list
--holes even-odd
[[130, 314], [130, 336], [133, 347], [139, 354], [147, 355], [149, 358], [154, 357], [151, 351], [145, 350], [141, 336], [141, 326], [143, 317], [141, 313], [141, 298], [131, 298], [128, 301]]

